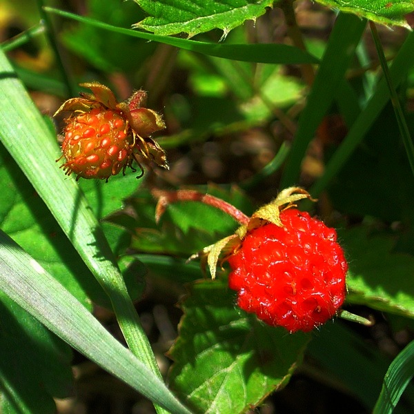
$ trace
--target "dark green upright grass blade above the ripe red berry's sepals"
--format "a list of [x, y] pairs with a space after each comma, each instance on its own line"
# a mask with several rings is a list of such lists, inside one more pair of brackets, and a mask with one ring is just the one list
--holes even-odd
[[282, 175], [281, 188], [297, 182], [308, 144], [333, 103], [365, 26], [366, 21], [353, 14], [339, 14], [308, 95], [306, 107], [299, 117], [295, 139]]

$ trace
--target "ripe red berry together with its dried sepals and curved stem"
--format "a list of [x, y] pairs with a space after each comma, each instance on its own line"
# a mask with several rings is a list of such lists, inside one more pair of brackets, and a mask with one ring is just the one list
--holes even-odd
[[311, 331], [339, 313], [346, 295], [348, 265], [335, 230], [293, 208], [295, 201], [311, 199], [302, 188], [282, 190], [252, 217], [224, 200], [191, 190], [155, 195], [159, 197], [157, 219], [170, 202], [193, 200], [219, 208], [242, 224], [235, 234], [191, 258], [201, 257], [213, 279], [219, 260], [227, 260], [232, 269], [228, 283], [237, 290], [237, 304], [244, 311], [291, 333]]

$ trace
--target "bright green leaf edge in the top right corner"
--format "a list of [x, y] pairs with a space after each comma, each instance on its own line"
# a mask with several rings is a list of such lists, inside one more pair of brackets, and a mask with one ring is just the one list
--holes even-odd
[[358, 17], [386, 26], [411, 29], [404, 16], [414, 11], [413, 0], [316, 0], [331, 8], [356, 14]]

